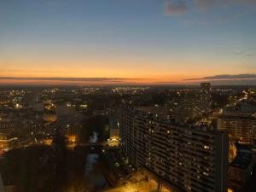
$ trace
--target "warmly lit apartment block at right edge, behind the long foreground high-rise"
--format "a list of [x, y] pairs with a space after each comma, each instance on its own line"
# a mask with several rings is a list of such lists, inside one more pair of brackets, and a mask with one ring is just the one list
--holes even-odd
[[231, 142], [252, 144], [256, 141], [256, 108], [239, 103], [224, 109], [218, 118], [218, 130], [227, 131]]

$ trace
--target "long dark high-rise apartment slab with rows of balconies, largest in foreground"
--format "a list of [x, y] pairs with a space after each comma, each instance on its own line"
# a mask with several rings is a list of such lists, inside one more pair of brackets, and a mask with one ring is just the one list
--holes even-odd
[[121, 143], [126, 157], [184, 191], [227, 191], [228, 137], [172, 125], [165, 119], [124, 109]]

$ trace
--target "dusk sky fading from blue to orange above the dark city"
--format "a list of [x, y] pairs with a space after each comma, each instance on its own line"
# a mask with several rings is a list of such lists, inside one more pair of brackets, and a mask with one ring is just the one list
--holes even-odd
[[255, 19], [256, 0], [1, 0], [0, 83], [256, 84]]

